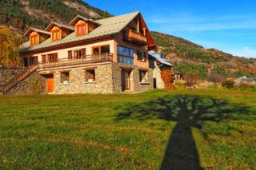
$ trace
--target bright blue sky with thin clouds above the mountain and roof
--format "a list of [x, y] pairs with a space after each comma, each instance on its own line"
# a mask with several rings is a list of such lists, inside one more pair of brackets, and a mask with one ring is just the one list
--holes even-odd
[[190, 40], [206, 48], [256, 57], [254, 0], [85, 0], [119, 15], [141, 11], [150, 30]]

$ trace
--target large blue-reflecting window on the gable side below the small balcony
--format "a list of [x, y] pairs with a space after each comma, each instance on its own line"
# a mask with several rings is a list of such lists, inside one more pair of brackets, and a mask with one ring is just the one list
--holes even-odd
[[134, 65], [134, 49], [118, 45], [118, 63]]

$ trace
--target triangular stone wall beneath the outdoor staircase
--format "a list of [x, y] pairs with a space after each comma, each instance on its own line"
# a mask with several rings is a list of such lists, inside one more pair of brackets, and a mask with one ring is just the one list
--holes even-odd
[[30, 74], [24, 80], [20, 81], [13, 88], [9, 89], [6, 94], [42, 94], [46, 93], [46, 79], [37, 72]]

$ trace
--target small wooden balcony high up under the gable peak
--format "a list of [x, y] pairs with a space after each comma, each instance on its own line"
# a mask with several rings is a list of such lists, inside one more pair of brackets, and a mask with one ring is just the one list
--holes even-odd
[[133, 42], [138, 45], [146, 45], [147, 38], [145, 35], [138, 33], [134, 30], [129, 29], [128, 33], [125, 34], [125, 38], [129, 42]]

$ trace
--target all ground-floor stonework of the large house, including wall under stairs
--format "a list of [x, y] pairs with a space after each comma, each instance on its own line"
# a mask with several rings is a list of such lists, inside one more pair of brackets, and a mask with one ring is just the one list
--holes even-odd
[[[87, 65], [73, 68], [58, 68], [50, 70], [54, 73], [53, 94], [74, 94], [74, 93], [122, 93], [121, 70], [124, 65], [116, 63], [103, 63], [98, 65]], [[130, 66], [130, 65], [125, 65]], [[94, 69], [95, 81], [86, 82], [86, 69]], [[69, 72], [70, 82], [63, 84], [61, 75]], [[40, 73], [40, 72], [39, 72]], [[38, 72], [32, 73], [23, 81], [10, 89], [7, 94], [41, 94], [46, 93], [46, 76]], [[146, 73], [147, 82], [139, 81], [139, 68], [132, 66], [130, 73], [130, 92], [144, 92], [153, 89], [153, 70], [148, 69]]]

